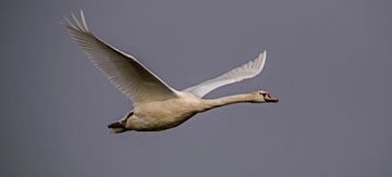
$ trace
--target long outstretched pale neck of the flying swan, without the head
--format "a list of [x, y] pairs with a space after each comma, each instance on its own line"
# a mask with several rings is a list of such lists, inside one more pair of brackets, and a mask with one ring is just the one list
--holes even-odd
[[204, 111], [242, 102], [252, 102], [252, 98], [249, 97], [249, 94], [234, 94], [221, 97], [218, 99], [203, 99]]

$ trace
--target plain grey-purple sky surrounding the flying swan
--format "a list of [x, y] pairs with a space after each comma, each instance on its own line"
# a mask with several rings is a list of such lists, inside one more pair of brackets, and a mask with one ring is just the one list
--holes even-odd
[[[392, 176], [392, 1], [0, 2], [0, 176]], [[59, 24], [89, 28], [176, 89], [268, 50], [278, 104], [235, 104], [160, 132], [110, 135], [132, 109]]]

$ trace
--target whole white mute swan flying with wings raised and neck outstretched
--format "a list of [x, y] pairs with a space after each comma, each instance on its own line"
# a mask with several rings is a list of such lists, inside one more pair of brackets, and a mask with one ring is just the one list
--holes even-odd
[[233, 103], [278, 102], [278, 99], [262, 90], [219, 99], [203, 99], [216, 88], [258, 75], [266, 62], [266, 51], [255, 60], [217, 78], [177, 91], [158, 78], [136, 58], [96, 37], [86, 25], [83, 11], [81, 11], [81, 21], [73, 13], [72, 17], [74, 22], [65, 17], [65, 23], [63, 23], [65, 29], [82, 50], [87, 53], [95, 66], [133, 101], [133, 111], [119, 122], [108, 125], [113, 134], [127, 130], [158, 131], [169, 129], [179, 126], [197, 113]]

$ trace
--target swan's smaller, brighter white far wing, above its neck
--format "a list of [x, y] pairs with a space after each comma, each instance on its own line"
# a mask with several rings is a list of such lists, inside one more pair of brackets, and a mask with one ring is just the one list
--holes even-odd
[[249, 61], [243, 64], [242, 66], [233, 68], [230, 72], [222, 74], [216, 78], [186, 88], [183, 91], [203, 98], [204, 96], [206, 96], [207, 93], [219, 87], [255, 77], [262, 71], [262, 67], [265, 66], [266, 63], [266, 56], [267, 56], [267, 51], [264, 51], [255, 60]]

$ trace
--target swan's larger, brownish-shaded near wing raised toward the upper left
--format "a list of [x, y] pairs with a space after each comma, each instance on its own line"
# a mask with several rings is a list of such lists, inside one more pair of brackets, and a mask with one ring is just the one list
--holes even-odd
[[126, 54], [96, 37], [87, 27], [81, 11], [82, 21], [65, 18], [64, 27], [71, 34], [88, 59], [103, 75], [134, 104], [160, 101], [177, 97], [176, 90], [169, 87], [136, 58]]

